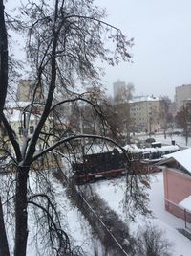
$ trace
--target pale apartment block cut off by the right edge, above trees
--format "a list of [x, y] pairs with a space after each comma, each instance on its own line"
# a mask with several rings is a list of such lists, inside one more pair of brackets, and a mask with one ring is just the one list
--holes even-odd
[[183, 103], [191, 99], [191, 84], [183, 84], [175, 88], [176, 110], [180, 110]]

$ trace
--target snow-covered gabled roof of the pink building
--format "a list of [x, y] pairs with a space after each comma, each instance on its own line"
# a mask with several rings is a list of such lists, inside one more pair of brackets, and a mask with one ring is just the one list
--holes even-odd
[[169, 153], [163, 156], [164, 160], [159, 162], [159, 164], [165, 164], [172, 161], [176, 161], [191, 174], [191, 148]]

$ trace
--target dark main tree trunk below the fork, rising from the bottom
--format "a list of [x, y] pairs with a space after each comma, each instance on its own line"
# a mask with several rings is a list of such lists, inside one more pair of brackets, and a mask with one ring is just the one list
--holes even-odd
[[29, 168], [19, 167], [15, 196], [15, 247], [14, 256], [26, 256], [28, 239], [27, 181]]

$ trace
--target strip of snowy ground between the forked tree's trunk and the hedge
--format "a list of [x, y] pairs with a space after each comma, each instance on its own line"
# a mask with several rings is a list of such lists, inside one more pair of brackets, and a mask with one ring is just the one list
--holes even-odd
[[[70, 199], [67, 198], [66, 189], [63, 185], [59, 183], [53, 175], [51, 175], [50, 178], [52, 179], [54, 196], [57, 210], [60, 213], [62, 228], [69, 236], [73, 248], [79, 247], [80, 251], [82, 249], [84, 256], [94, 256], [94, 246], [96, 246], [95, 243], [98, 242], [92, 240], [92, 232], [89, 223], [72, 204]], [[29, 226], [29, 232], [33, 232], [32, 226]], [[35, 247], [35, 244], [31, 244], [30, 241], [28, 241], [28, 245], [27, 255], [36, 256], [37, 247]]]

